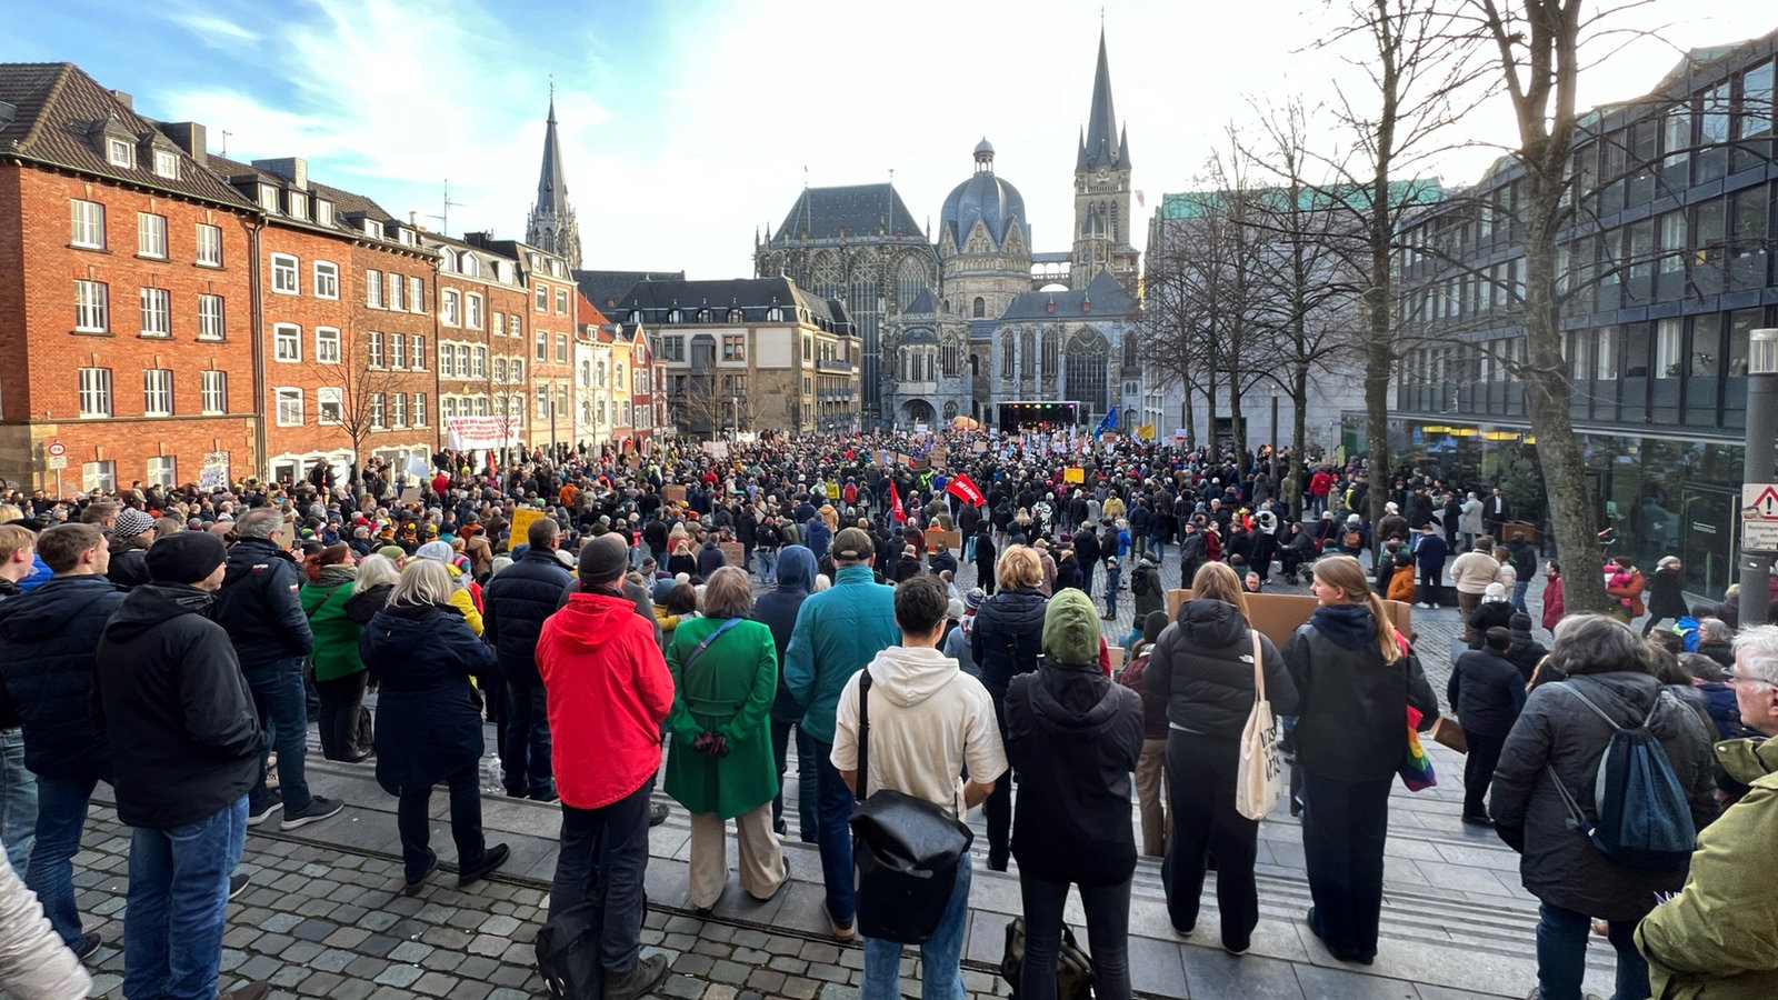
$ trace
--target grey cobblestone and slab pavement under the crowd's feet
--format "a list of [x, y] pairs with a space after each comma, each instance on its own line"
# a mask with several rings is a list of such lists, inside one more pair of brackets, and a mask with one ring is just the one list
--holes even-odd
[[[973, 582], [965, 569], [962, 584]], [[1177, 562], [1165, 569], [1177, 584]], [[1291, 591], [1291, 587], [1280, 587]], [[1301, 587], [1296, 587], [1301, 591]], [[1127, 594], [1125, 594], [1127, 598]], [[1120, 601], [1120, 628], [1129, 626], [1129, 601]], [[1415, 612], [1415, 630], [1428, 673], [1442, 692], [1456, 612]], [[311, 747], [315, 735], [309, 735]], [[493, 746], [493, 728], [489, 728]], [[1131, 902], [1131, 966], [1138, 995], [1147, 998], [1278, 998], [1278, 1000], [1460, 1000], [1524, 996], [1534, 979], [1536, 900], [1520, 886], [1517, 856], [1488, 833], [1458, 822], [1462, 758], [1430, 747], [1440, 785], [1390, 801], [1383, 947], [1374, 966], [1335, 961], [1303, 927], [1309, 888], [1301, 827], [1284, 806], [1261, 827], [1261, 923], [1248, 956], [1230, 957], [1216, 936], [1214, 890], [1205, 886], [1200, 931], [1181, 940], [1166, 920], [1156, 859], [1145, 858]], [[373, 781], [368, 765], [341, 765], [309, 756], [309, 783], [318, 794], [343, 797], [347, 810], [295, 833], [268, 824], [247, 836], [242, 870], [252, 884], [231, 904], [224, 940], [224, 989], [240, 980], [270, 980], [277, 996], [393, 1000], [517, 1000], [542, 996], [532, 966], [532, 940], [555, 870], [560, 811], [500, 795], [484, 797], [489, 842], [512, 845], [512, 859], [491, 879], [457, 890], [450, 875], [434, 875], [418, 897], [404, 897], [395, 799]], [[788, 779], [795, 797], [795, 779]], [[103, 788], [101, 788], [103, 797]], [[446, 802], [434, 799], [434, 845], [450, 852]], [[651, 831], [645, 950], [665, 952], [672, 977], [661, 989], [674, 1000], [855, 1000], [862, 952], [825, 934], [820, 858], [797, 842], [797, 811], [784, 851], [793, 881], [759, 904], [731, 890], [715, 915], [699, 920], [685, 891], [690, 827], [674, 806], [669, 822]], [[987, 872], [980, 815], [976, 877], [965, 941], [964, 980], [971, 1000], [1005, 996], [996, 975], [1006, 922], [1019, 913], [1017, 874]], [[733, 851], [733, 843], [731, 843]], [[80, 907], [89, 929], [107, 943], [92, 959], [96, 995], [121, 995], [123, 907], [128, 872], [128, 829], [107, 804], [96, 804], [85, 851], [76, 858]], [[1214, 883], [1214, 875], [1211, 877]], [[1067, 909], [1079, 931], [1077, 900]], [[903, 963], [903, 991], [917, 995], [917, 968]], [[1590, 952], [1588, 986], [1611, 993], [1611, 956], [1602, 941]]]

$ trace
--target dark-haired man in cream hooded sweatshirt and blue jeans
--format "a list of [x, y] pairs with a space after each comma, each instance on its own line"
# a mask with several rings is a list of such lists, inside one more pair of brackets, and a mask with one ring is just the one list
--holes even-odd
[[[981, 681], [965, 674], [957, 660], [939, 653], [948, 598], [944, 584], [930, 573], [903, 580], [894, 589], [894, 619], [901, 644], [891, 646], [864, 667], [871, 676], [869, 774], [866, 794], [894, 788], [925, 799], [955, 819], [978, 806], [1006, 772], [994, 701]], [[859, 678], [853, 674], [834, 712], [832, 763], [859, 792]], [[969, 778], [960, 778], [964, 769]], [[921, 996], [964, 996], [962, 952], [969, 922], [969, 856], [957, 868], [951, 902], [932, 938], [919, 947]], [[901, 996], [901, 945], [864, 938], [861, 1000]]]

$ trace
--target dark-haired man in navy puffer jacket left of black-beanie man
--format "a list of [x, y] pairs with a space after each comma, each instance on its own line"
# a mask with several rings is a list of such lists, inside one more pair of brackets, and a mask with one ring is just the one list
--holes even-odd
[[37, 776], [36, 849], [21, 872], [50, 925], [82, 959], [100, 947], [75, 907], [73, 858], [110, 749], [92, 717], [100, 630], [123, 603], [105, 578], [110, 550], [96, 525], [55, 525], [37, 539], [53, 578], [0, 603], [0, 674], [25, 726], [25, 767]]

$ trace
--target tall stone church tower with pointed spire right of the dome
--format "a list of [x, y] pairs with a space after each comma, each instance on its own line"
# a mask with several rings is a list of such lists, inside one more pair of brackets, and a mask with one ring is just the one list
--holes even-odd
[[1101, 270], [1136, 294], [1136, 249], [1129, 242], [1129, 135], [1111, 107], [1106, 32], [1099, 27], [1099, 68], [1081, 153], [1074, 164], [1074, 254], [1069, 285], [1085, 288]]

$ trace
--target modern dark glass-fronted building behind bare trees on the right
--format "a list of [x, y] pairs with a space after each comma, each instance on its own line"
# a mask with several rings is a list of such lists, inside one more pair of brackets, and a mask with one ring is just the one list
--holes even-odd
[[[1588, 114], [1563, 201], [1561, 322], [1598, 523], [1645, 571], [1682, 557], [1709, 596], [1737, 578], [1748, 335], [1778, 326], [1774, 55], [1778, 32], [1698, 50]], [[1401, 233], [1394, 457], [1463, 484], [1536, 468], [1515, 375], [1524, 183], [1502, 160]]]

